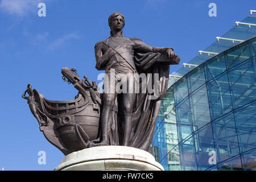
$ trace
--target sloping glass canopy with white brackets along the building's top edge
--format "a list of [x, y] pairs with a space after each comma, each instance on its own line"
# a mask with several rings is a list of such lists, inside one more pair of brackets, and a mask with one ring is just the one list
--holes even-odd
[[[254, 12], [254, 10], [251, 11]], [[205, 61], [209, 60], [213, 56], [216, 56], [216, 54], [225, 51], [226, 49], [240, 44], [242, 40], [245, 41], [256, 36], [256, 13], [247, 16], [241, 22], [234, 22], [234, 24], [235, 26], [226, 32], [226, 34], [222, 35], [218, 39], [216, 38], [216, 42], [210, 44], [209, 47], [199, 53], [199, 55], [194, 57], [191, 61], [189, 61], [187, 65], [184, 65], [183, 68], [180, 68], [177, 72], [170, 75], [168, 87], [173, 85], [177, 80], [186, 75], [189, 71], [197, 67], [197, 65], [204, 63]]]

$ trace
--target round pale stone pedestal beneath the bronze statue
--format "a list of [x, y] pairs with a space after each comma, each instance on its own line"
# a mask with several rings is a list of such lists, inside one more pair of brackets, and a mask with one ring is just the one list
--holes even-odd
[[55, 171], [164, 171], [154, 156], [144, 150], [126, 146], [92, 147], [73, 152]]

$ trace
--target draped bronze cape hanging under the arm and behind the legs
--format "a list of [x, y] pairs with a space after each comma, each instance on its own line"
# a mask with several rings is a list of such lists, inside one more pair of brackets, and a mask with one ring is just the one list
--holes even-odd
[[[132, 115], [133, 124], [129, 142], [130, 147], [148, 151], [154, 135], [155, 122], [158, 117], [161, 99], [167, 90], [170, 64], [179, 64], [179, 61], [180, 58], [176, 55], [174, 58], [168, 60], [166, 53], [135, 53], [134, 63], [138, 73], [145, 73], [147, 78], [150, 78], [147, 79], [147, 82], [151, 81], [152, 88], [155, 89], [153, 89], [153, 93], [148, 92], [148, 90], [146, 90], [146, 93], [142, 93], [141, 88], [143, 82], [139, 82], [140, 92], [137, 93]], [[150, 73], [152, 77], [148, 75]], [[158, 74], [157, 80], [154, 78], [155, 74]], [[156, 90], [158, 93], [155, 93]], [[155, 96], [154, 99], [152, 99], [153, 96]], [[112, 117], [109, 118], [110, 145], [121, 145], [122, 143], [122, 122], [124, 120], [124, 114], [121, 108], [122, 99], [119, 99], [119, 97], [118, 95], [117, 101], [115, 102], [116, 109], [113, 110]]]

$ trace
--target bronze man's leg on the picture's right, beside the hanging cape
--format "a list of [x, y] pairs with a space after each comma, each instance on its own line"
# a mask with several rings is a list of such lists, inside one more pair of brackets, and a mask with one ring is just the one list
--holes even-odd
[[[132, 79], [132, 80], [131, 80]], [[127, 89], [133, 86], [135, 88], [135, 82], [133, 78], [127, 79]], [[124, 111], [124, 121], [123, 121], [123, 133], [122, 133], [122, 145], [129, 146], [130, 136], [131, 136], [131, 127], [133, 126], [132, 123], [132, 114], [133, 114], [133, 107], [136, 98], [136, 93], [134, 89], [130, 89], [128, 93], [123, 93], [123, 111]]]

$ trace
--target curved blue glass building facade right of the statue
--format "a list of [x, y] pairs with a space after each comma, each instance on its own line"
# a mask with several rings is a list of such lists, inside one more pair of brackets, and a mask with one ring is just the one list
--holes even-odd
[[165, 170], [256, 169], [256, 27], [245, 31], [250, 39], [170, 79], [152, 140]]

